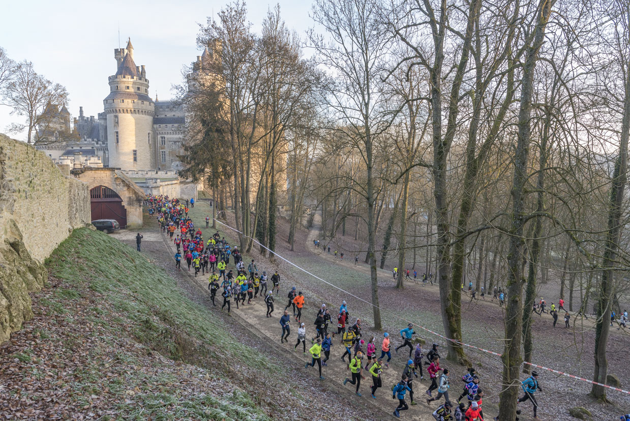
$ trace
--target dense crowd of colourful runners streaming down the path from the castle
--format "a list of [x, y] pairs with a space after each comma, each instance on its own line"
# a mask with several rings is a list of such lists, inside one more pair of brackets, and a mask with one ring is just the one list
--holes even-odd
[[[193, 206], [193, 201], [190, 205]], [[239, 308], [243, 305], [251, 305], [256, 300], [264, 301], [266, 317], [275, 318], [276, 300], [282, 302], [280, 293], [280, 275], [274, 271], [268, 276], [266, 271], [259, 271], [254, 260], [247, 265], [237, 247], [232, 247], [219, 232], [215, 232], [208, 240], [203, 237], [201, 228], [195, 227], [188, 216], [188, 201], [183, 203], [178, 199], [170, 199], [168, 196], [147, 196], [146, 205], [149, 215], [155, 216], [161, 227], [161, 231], [169, 236], [176, 247], [175, 266], [181, 269], [181, 261], [186, 262], [184, 270], [194, 271], [194, 276], [209, 276], [208, 289], [213, 305], [221, 304], [221, 311], [232, 310], [232, 302]], [[205, 227], [209, 227], [210, 217], [205, 218]], [[177, 234], [175, 234], [177, 233]], [[414, 274], [415, 275], [415, 274]], [[428, 277], [427, 277], [428, 278]], [[268, 287], [270, 283], [270, 287]], [[217, 294], [222, 303], [215, 302]], [[275, 295], [274, 295], [275, 294]], [[282, 294], [286, 294], [285, 307], [279, 317], [278, 333], [280, 343], [293, 343], [290, 338], [293, 323], [297, 324], [294, 352], [307, 353], [307, 341], [310, 342], [308, 352], [310, 359], [304, 365], [305, 368], [318, 366], [319, 379], [323, 380], [323, 367], [331, 358], [331, 352], [335, 347], [337, 336], [339, 340], [340, 356], [350, 376], [343, 381], [344, 386], [352, 384], [357, 396], [362, 396], [361, 381], [370, 377], [370, 396], [376, 398], [383, 393], [379, 389], [386, 386], [386, 392], [392, 393], [392, 399], [398, 400], [394, 409], [394, 417], [400, 417], [401, 412], [408, 410], [410, 405], [417, 405], [420, 399], [424, 399], [426, 405], [436, 406], [433, 418], [437, 421], [483, 421], [483, 397], [481, 377], [473, 368], [457, 377], [459, 386], [454, 389], [461, 390], [455, 401], [449, 396], [451, 381], [454, 374], [447, 367], [440, 364], [438, 343], [425, 352], [420, 340], [414, 338], [416, 332], [413, 324], [408, 324], [395, 335], [400, 344], [394, 348], [395, 356], [403, 359], [402, 372], [391, 372], [389, 362], [392, 359], [391, 348], [394, 347], [391, 335], [388, 332], [382, 334], [382, 338], [364, 335], [361, 319], [350, 316], [347, 302], [341, 301], [339, 307], [330, 308], [331, 305], [321, 304], [317, 312], [309, 316], [302, 314], [306, 299], [296, 287], [283, 288]], [[306, 321], [303, 321], [306, 319]], [[336, 329], [332, 326], [336, 322]], [[307, 328], [308, 323], [308, 328]], [[312, 324], [311, 324], [312, 323]], [[311, 326], [314, 326], [311, 328]], [[343, 350], [343, 353], [341, 353]], [[379, 355], [380, 350], [380, 356]], [[346, 356], [348, 359], [346, 359]], [[424, 369], [428, 379], [425, 383]], [[390, 372], [385, 376], [386, 372]], [[419, 377], [418, 377], [419, 376]], [[387, 377], [387, 382], [384, 381]], [[427, 384], [423, 388], [422, 384]], [[425, 390], [423, 390], [425, 389]], [[531, 401], [534, 408], [534, 418], [537, 418], [538, 404], [535, 398], [537, 391], [541, 390], [538, 384], [538, 374], [532, 372], [522, 382], [524, 395], [519, 403]], [[365, 389], [364, 389], [365, 390]], [[418, 393], [423, 393], [422, 398]], [[416, 393], [416, 394], [415, 394]], [[407, 401], [409, 400], [409, 403]], [[444, 400], [443, 400], [444, 398]], [[494, 419], [497, 419], [496, 417]]]

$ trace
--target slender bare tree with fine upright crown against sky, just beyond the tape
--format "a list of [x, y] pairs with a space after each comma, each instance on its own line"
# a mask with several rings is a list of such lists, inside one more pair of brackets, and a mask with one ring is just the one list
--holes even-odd
[[322, 64], [336, 76], [329, 86], [327, 104], [335, 111], [348, 141], [360, 151], [365, 166], [364, 188], [355, 188], [367, 208], [367, 254], [376, 329], [382, 329], [382, 323], [375, 258], [379, 198], [375, 149], [389, 125], [382, 112], [385, 98], [379, 89], [382, 60], [387, 54], [386, 33], [377, 20], [379, 7], [372, 0], [316, 0], [312, 17], [328, 38], [309, 32]]

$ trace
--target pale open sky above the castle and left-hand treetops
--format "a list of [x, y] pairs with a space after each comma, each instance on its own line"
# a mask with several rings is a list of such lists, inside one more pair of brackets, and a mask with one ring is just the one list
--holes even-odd
[[[181, 69], [195, 61], [200, 51], [195, 40], [199, 23], [216, 16], [226, 1], [209, 0], [21, 0], [3, 2], [3, 28], [0, 46], [14, 61], [32, 61], [35, 71], [66, 86], [69, 111], [86, 116], [103, 112], [108, 95], [107, 77], [116, 73], [114, 49], [127, 45], [131, 37], [134, 61], [144, 64], [149, 79], [149, 95], [160, 100], [173, 96], [171, 86], [181, 83]], [[287, 27], [301, 37], [312, 26], [311, 0], [251, 0], [247, 3], [253, 30], [268, 8], [280, 4]], [[0, 105], [0, 133], [20, 116]], [[25, 139], [23, 135], [10, 135]]]

